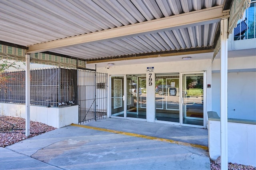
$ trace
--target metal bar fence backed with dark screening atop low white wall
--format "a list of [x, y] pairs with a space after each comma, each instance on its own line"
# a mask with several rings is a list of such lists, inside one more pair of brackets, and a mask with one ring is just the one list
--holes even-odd
[[[25, 103], [25, 71], [1, 73], [0, 102]], [[77, 70], [60, 67], [30, 70], [30, 104], [63, 107], [77, 104]], [[71, 103], [72, 101], [72, 103]]]

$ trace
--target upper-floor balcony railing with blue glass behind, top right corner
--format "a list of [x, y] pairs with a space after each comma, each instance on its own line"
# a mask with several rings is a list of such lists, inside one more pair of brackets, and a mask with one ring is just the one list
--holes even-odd
[[244, 12], [237, 27], [234, 28], [234, 40], [245, 40], [256, 38], [256, 1], [252, 1], [250, 7]]

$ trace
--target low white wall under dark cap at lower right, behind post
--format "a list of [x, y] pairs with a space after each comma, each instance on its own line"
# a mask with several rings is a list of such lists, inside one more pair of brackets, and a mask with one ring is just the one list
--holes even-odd
[[[220, 121], [209, 121], [210, 158], [220, 156]], [[228, 162], [256, 167], [256, 125], [228, 122]]]

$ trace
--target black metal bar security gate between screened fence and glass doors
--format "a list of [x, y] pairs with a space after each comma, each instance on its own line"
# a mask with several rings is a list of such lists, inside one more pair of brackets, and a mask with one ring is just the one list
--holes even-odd
[[107, 73], [78, 69], [78, 121], [97, 121], [107, 117]]

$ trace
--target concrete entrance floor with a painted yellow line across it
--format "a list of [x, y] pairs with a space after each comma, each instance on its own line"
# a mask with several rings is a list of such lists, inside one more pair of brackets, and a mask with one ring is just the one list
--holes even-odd
[[208, 130], [124, 119], [70, 125], [0, 148], [0, 169], [210, 170]]

